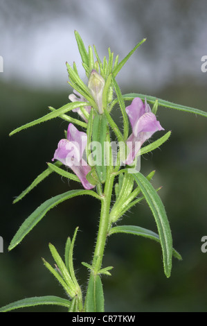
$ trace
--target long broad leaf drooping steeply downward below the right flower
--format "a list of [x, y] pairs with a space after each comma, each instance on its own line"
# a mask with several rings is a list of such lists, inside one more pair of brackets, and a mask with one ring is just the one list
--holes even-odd
[[138, 187], [140, 187], [147, 204], [149, 205], [154, 219], [156, 221], [156, 226], [159, 232], [159, 238], [161, 240], [161, 248], [163, 251], [163, 265], [165, 275], [170, 277], [172, 269], [172, 234], [170, 230], [170, 225], [168, 222], [168, 217], [165, 212], [165, 207], [161, 201], [161, 198], [156, 193], [156, 190], [152, 187], [150, 181], [144, 177], [141, 173], [134, 174], [134, 180], [136, 181]]

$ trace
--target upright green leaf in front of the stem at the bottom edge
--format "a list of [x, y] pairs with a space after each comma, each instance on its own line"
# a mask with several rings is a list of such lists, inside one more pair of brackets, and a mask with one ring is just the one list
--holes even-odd
[[86, 312], [104, 312], [104, 294], [99, 275], [91, 273], [85, 300]]

